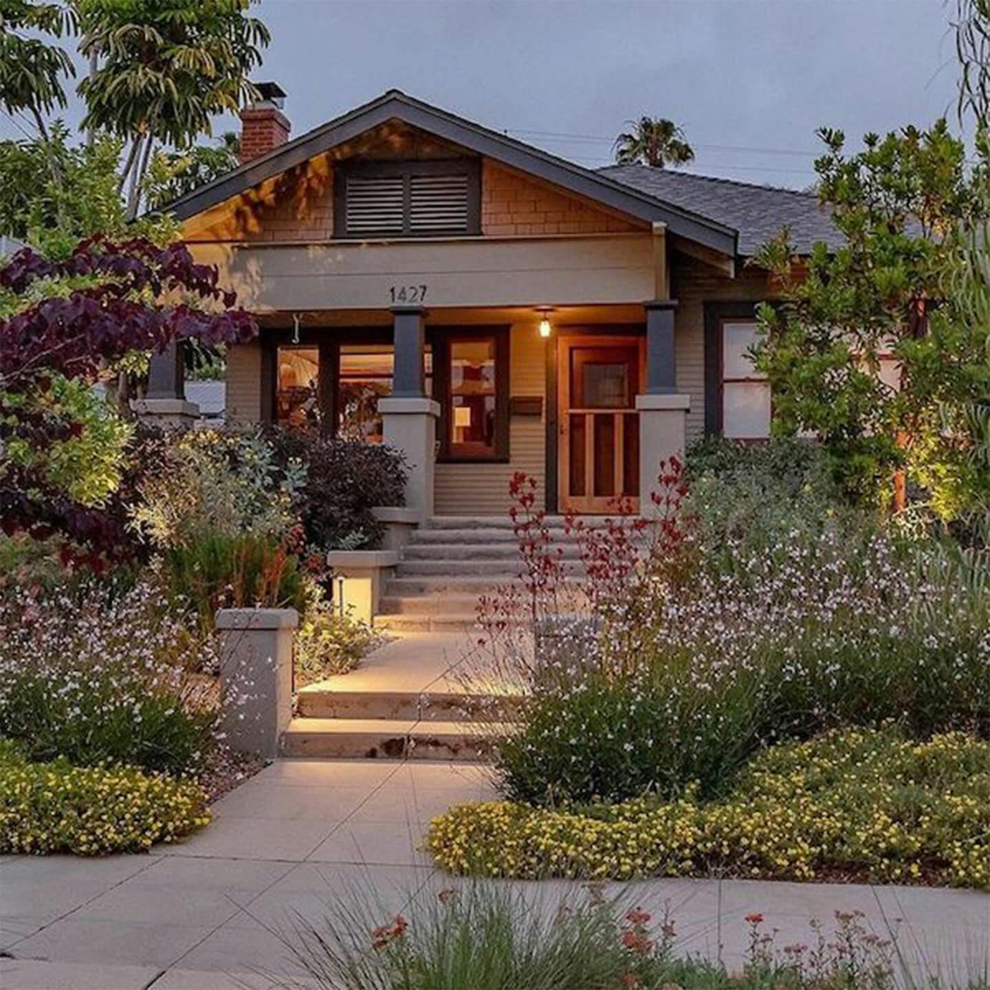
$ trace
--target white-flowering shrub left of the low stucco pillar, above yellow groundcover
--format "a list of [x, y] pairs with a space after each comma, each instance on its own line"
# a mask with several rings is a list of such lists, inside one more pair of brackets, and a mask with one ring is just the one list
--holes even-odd
[[211, 742], [209, 642], [162, 612], [147, 581], [0, 594], [0, 736], [28, 758], [114, 761], [173, 774], [198, 768]]

